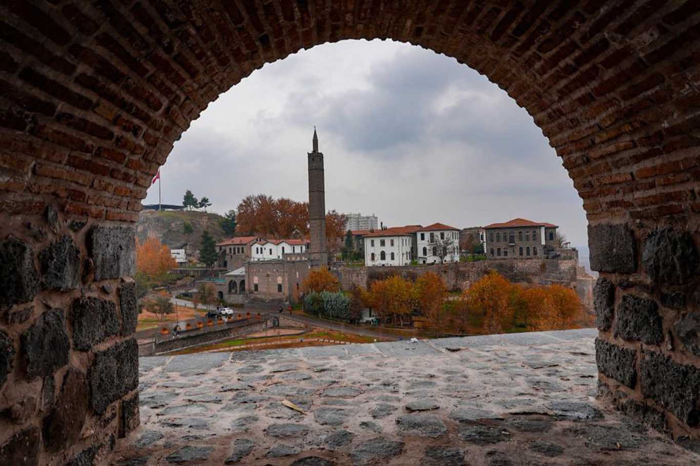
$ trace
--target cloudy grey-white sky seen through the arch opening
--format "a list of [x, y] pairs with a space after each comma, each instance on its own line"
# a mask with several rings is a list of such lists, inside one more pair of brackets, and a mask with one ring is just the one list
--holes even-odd
[[[325, 205], [385, 225], [556, 223], [587, 256], [582, 201], [533, 119], [454, 59], [391, 41], [319, 45], [255, 71], [207, 108], [161, 169], [211, 209], [246, 195], [305, 200], [314, 125]], [[158, 202], [158, 186], [144, 204]]]

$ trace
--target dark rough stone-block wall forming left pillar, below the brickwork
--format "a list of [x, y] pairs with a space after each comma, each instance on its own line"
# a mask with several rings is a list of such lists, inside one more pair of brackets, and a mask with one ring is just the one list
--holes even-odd
[[102, 458], [139, 425], [134, 228], [52, 204], [17, 220], [0, 213], [0, 463]]

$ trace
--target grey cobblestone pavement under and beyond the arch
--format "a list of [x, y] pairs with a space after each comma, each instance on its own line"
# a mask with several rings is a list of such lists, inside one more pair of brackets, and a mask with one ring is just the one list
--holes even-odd
[[595, 336], [141, 358], [141, 427], [112, 464], [700, 464], [596, 403]]

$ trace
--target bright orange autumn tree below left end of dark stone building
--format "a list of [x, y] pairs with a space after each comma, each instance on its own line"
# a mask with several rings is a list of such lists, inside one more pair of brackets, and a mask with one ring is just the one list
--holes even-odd
[[482, 319], [482, 330], [500, 333], [512, 324], [510, 282], [496, 272], [479, 278], [465, 291], [468, 312]]

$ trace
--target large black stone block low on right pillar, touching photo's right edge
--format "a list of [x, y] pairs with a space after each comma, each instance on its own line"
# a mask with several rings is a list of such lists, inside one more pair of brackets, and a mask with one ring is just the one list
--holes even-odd
[[644, 351], [639, 374], [642, 394], [671, 411], [687, 425], [700, 421], [700, 369], [678, 364], [668, 356]]

